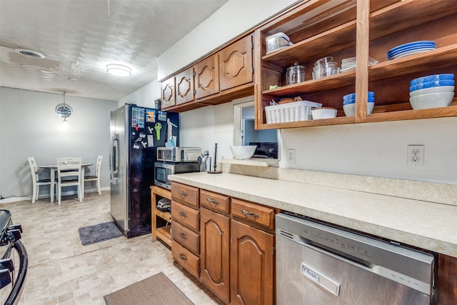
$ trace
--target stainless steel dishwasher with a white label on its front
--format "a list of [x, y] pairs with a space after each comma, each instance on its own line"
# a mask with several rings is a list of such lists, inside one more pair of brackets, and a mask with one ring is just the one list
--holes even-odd
[[276, 215], [276, 301], [432, 304], [434, 257], [296, 215]]

